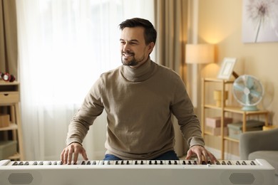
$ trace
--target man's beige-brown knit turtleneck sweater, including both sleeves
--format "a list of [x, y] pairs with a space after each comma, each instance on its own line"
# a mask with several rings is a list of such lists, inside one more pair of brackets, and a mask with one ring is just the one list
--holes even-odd
[[101, 75], [71, 120], [66, 144], [82, 143], [103, 109], [107, 112], [107, 154], [153, 159], [173, 150], [172, 114], [188, 144], [204, 146], [200, 122], [181, 78], [150, 59], [140, 68], [122, 65]]

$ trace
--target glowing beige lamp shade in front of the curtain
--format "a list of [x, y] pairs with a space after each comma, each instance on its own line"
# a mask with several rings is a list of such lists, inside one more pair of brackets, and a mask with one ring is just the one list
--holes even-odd
[[199, 43], [187, 44], [185, 48], [185, 63], [213, 63], [215, 60], [215, 46]]

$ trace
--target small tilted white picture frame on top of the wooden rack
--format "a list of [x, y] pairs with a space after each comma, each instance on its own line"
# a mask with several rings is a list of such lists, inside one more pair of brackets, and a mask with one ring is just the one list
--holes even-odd
[[221, 64], [220, 71], [217, 75], [218, 79], [229, 80], [235, 67], [237, 58], [224, 58]]

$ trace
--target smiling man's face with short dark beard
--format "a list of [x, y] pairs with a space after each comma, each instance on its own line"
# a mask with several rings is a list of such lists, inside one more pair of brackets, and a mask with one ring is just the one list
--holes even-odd
[[146, 45], [144, 28], [123, 28], [120, 36], [120, 52], [123, 65], [138, 68], [145, 63], [153, 51], [154, 43]]

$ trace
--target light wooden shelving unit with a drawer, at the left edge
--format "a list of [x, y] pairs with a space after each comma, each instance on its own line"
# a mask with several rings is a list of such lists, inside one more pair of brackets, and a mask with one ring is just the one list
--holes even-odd
[[[6, 153], [3, 153], [4, 155], [1, 155], [0, 159], [4, 157], [5, 159], [24, 160], [19, 102], [19, 83], [0, 80], [0, 106], [9, 109], [4, 112], [4, 118], [1, 119], [1, 126], [4, 127], [0, 127], [0, 134], [3, 136], [0, 138], [0, 152]], [[9, 122], [7, 123], [7, 121]], [[6, 156], [7, 154], [9, 157]]]

